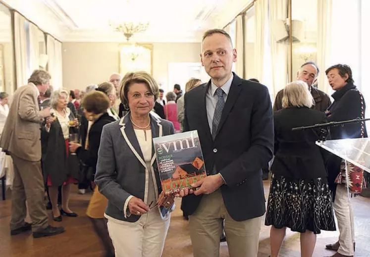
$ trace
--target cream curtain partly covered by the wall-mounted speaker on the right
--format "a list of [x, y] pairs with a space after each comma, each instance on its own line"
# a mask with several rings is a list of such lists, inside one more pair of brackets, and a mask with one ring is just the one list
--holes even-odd
[[[287, 18], [287, 0], [269, 1], [269, 22], [273, 24]], [[271, 26], [270, 26], [271, 28]], [[288, 45], [277, 43], [273, 33], [270, 33], [272, 85], [269, 87], [271, 94], [276, 96], [287, 83], [288, 74]], [[295, 76], [295, 74], [293, 74]]]

